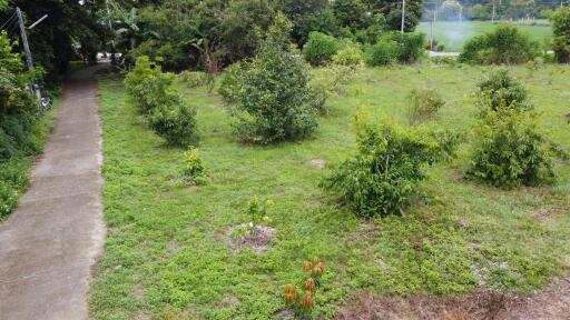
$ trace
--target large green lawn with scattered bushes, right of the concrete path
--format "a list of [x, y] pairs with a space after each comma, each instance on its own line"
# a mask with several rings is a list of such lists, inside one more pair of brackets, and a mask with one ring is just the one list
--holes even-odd
[[[325, 261], [316, 313], [330, 319], [362, 290], [375, 294], [455, 294], [481, 287], [529, 291], [570, 264], [570, 166], [556, 187], [512, 191], [465, 181], [469, 143], [456, 161], [430, 170], [429, 201], [403, 217], [357, 219], [318, 183], [355, 150], [353, 118], [406, 123], [405, 96], [431, 88], [446, 100], [431, 126], [465, 130], [478, 110], [471, 92], [488, 69], [430, 66], [365, 69], [332, 99], [314, 138], [273, 147], [235, 141], [220, 99], [184, 89], [198, 109], [200, 153], [210, 182], [177, 183], [184, 150], [165, 147], [129, 102], [122, 83], [99, 79], [104, 127], [105, 254], [90, 292], [94, 319], [268, 319], [285, 309], [283, 288], [303, 279], [302, 262]], [[542, 124], [570, 150], [569, 67], [548, 66], [529, 86]], [[230, 230], [248, 221], [252, 196], [271, 198], [276, 234], [265, 253], [236, 250]], [[169, 318], [171, 317], [171, 318]]]

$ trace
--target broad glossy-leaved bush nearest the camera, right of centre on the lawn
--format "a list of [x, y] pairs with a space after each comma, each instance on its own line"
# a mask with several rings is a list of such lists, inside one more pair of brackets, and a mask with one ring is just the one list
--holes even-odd
[[341, 193], [358, 216], [401, 213], [425, 179], [425, 166], [440, 152], [438, 143], [423, 136], [415, 128], [364, 127], [356, 157], [334, 169], [324, 186]]

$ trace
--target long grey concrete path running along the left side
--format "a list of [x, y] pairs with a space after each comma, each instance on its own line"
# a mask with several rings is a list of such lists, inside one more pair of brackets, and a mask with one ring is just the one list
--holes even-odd
[[92, 67], [68, 77], [31, 186], [0, 223], [0, 319], [87, 319], [105, 239], [101, 129]]

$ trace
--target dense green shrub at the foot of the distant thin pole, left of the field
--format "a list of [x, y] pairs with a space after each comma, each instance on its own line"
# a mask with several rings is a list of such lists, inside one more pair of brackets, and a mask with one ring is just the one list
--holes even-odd
[[420, 32], [391, 32], [379, 38], [364, 51], [368, 66], [385, 66], [391, 62], [412, 63], [423, 54], [425, 36]]

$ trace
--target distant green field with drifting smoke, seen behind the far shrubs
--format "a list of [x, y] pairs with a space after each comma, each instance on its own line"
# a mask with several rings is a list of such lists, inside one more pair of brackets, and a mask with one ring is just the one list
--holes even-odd
[[[438, 21], [433, 23], [433, 37], [445, 43], [445, 51], [461, 51], [469, 39], [491, 31], [498, 24], [490, 21]], [[552, 28], [546, 24], [547, 21], [540, 21], [539, 26], [515, 23], [521, 30], [527, 31], [532, 39], [541, 42], [548, 41], [552, 37]], [[430, 22], [421, 22], [417, 30], [430, 38]]]

